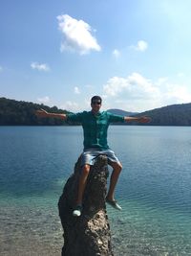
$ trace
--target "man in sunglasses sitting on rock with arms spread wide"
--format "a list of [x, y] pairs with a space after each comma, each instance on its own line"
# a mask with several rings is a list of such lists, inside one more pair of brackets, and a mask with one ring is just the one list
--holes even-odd
[[81, 156], [82, 172], [79, 178], [78, 195], [75, 202], [73, 215], [79, 217], [82, 212], [82, 200], [84, 189], [86, 186], [87, 177], [90, 173], [91, 165], [94, 165], [96, 156], [105, 154], [108, 157], [108, 164], [112, 166], [113, 173], [110, 179], [110, 186], [106, 197], [107, 203], [112, 205], [117, 210], [121, 210], [120, 205], [114, 197], [117, 179], [121, 172], [122, 166], [114, 151], [112, 151], [107, 143], [107, 130], [111, 123], [124, 123], [137, 121], [140, 123], [147, 123], [150, 121], [148, 117], [123, 117], [114, 115], [107, 111], [100, 112], [102, 99], [99, 96], [94, 96], [91, 99], [91, 111], [83, 111], [76, 114], [59, 114], [48, 113], [41, 109], [36, 111], [39, 117], [56, 117], [67, 120], [71, 123], [80, 123], [84, 133], [84, 150]]

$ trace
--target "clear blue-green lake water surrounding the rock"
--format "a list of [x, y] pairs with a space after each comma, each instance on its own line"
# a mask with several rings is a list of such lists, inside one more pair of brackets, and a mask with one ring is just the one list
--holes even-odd
[[[191, 255], [191, 128], [113, 126], [108, 140], [123, 165], [115, 255]], [[0, 127], [1, 256], [60, 255], [57, 201], [81, 151], [80, 127]]]

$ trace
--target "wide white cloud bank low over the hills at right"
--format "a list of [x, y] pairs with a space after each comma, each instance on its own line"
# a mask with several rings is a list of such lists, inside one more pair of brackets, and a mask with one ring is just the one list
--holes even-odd
[[191, 102], [191, 91], [186, 85], [172, 83], [168, 78], [151, 81], [138, 73], [111, 78], [103, 85], [103, 95], [110, 107], [129, 111]]

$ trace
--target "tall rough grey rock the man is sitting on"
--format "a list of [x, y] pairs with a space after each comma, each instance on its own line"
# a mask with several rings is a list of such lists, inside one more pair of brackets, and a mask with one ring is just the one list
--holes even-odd
[[100, 155], [91, 167], [80, 217], [73, 216], [80, 175], [80, 157], [59, 198], [59, 216], [64, 230], [62, 256], [113, 256], [110, 225], [106, 213], [107, 157]]

